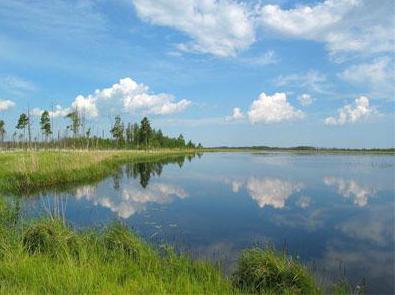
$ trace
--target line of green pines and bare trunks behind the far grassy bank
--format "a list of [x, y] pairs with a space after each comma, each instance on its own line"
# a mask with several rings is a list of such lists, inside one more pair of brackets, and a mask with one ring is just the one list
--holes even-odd
[[48, 111], [43, 111], [39, 120], [39, 132], [41, 138], [32, 138], [32, 120], [30, 112], [20, 114], [15, 132], [11, 140], [5, 141], [7, 134], [4, 120], [0, 120], [0, 143], [8, 148], [97, 148], [97, 149], [151, 149], [151, 148], [202, 148], [191, 140], [186, 141], [180, 134], [178, 137], [164, 135], [161, 129], [152, 128], [151, 122], [144, 117], [141, 122], [122, 121], [121, 116], [116, 116], [109, 130], [111, 137], [92, 136], [92, 129], [87, 128], [84, 115], [77, 109], [72, 110], [65, 116], [68, 125], [65, 128], [65, 136], [57, 137], [53, 132], [53, 120]]

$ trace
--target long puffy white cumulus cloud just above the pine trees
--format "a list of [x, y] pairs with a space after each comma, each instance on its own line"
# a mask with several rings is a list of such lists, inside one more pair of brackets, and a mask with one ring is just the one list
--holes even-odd
[[[148, 86], [124, 78], [109, 88], [95, 90], [93, 94], [78, 95], [70, 107], [56, 106], [53, 115], [65, 116], [73, 109], [90, 118], [98, 117], [101, 112], [169, 115], [185, 110], [190, 104], [186, 99], [175, 101], [175, 97], [167, 93], [152, 94]], [[36, 109], [35, 113], [40, 114], [42, 110]]]

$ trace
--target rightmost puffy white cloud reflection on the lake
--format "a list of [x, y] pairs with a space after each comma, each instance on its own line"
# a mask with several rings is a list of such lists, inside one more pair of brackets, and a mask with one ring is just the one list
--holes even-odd
[[324, 182], [328, 186], [335, 186], [338, 194], [345, 198], [352, 198], [354, 204], [364, 207], [368, 203], [368, 198], [375, 195], [375, 189], [359, 184], [355, 180], [345, 180], [340, 177], [326, 176]]

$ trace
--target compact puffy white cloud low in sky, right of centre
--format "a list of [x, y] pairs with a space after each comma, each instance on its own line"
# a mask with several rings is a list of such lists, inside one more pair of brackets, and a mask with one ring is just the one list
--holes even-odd
[[253, 101], [250, 111], [248, 112], [249, 121], [254, 123], [278, 123], [301, 119], [304, 113], [295, 109], [287, 102], [285, 93], [275, 93], [272, 96], [261, 93], [255, 101]]

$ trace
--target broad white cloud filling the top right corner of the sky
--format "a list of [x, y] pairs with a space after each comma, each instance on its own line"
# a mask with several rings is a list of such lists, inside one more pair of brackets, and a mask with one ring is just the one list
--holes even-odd
[[324, 42], [332, 53], [391, 52], [394, 49], [392, 0], [326, 0], [282, 9], [260, 8], [258, 23], [266, 32]]

